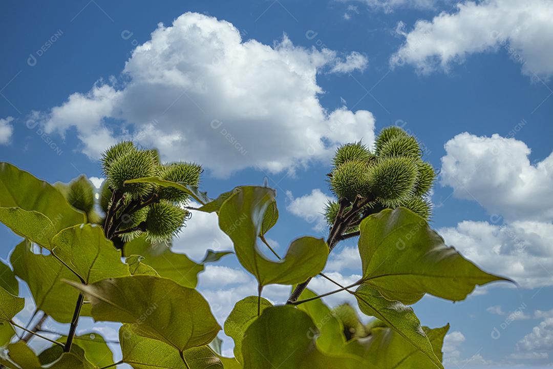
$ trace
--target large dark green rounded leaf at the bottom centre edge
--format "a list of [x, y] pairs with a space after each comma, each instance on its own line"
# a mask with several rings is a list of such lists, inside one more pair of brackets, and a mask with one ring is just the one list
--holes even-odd
[[323, 354], [310, 332], [317, 327], [304, 311], [292, 306], [263, 310], [242, 341], [244, 369], [371, 369], [352, 355]]

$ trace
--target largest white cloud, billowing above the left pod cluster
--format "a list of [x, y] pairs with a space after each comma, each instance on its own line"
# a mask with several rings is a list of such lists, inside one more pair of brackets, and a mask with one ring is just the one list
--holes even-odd
[[243, 41], [231, 23], [185, 13], [137, 46], [121, 89], [100, 81], [41, 121], [48, 133], [75, 127], [92, 158], [132, 138], [217, 176], [247, 167], [293, 171], [327, 160], [339, 144], [373, 143], [371, 112], [329, 113], [318, 98], [317, 74], [362, 69], [362, 61], [357, 53], [343, 61], [336, 51], [294, 46], [286, 36], [273, 46]]

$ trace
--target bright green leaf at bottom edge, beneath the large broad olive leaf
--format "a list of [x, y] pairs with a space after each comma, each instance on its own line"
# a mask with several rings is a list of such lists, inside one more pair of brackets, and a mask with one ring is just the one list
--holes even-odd
[[207, 346], [192, 347], [181, 356], [173, 346], [141, 336], [132, 324], [119, 329], [119, 342], [123, 361], [134, 369], [223, 369], [221, 360]]

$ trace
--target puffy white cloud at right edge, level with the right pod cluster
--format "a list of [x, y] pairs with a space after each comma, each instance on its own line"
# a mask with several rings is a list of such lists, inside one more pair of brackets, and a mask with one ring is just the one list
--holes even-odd
[[457, 198], [476, 200], [508, 220], [553, 220], [553, 153], [533, 164], [522, 141], [466, 132], [450, 139], [445, 150], [441, 184], [451, 186]]

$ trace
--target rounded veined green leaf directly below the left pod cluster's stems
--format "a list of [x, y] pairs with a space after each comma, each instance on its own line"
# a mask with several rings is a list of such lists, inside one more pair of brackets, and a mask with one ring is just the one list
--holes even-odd
[[53, 253], [85, 283], [108, 277], [129, 276], [129, 267], [121, 262], [121, 251], [104, 236], [100, 226], [85, 224], [66, 228], [51, 241]]

